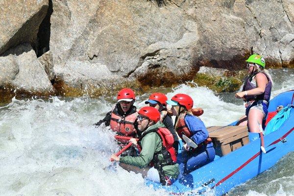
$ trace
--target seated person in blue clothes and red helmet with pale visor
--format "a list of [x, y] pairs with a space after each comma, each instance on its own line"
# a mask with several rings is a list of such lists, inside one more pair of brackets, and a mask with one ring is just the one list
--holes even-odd
[[181, 178], [184, 174], [212, 162], [215, 158], [215, 150], [204, 123], [191, 111], [193, 99], [190, 96], [176, 94], [166, 103], [172, 105], [172, 114], [176, 116], [175, 130], [185, 141], [183, 151], [178, 156], [179, 178]]

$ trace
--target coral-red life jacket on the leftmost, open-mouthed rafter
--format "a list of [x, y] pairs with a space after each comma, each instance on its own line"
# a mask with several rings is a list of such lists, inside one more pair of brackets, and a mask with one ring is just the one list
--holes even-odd
[[138, 116], [138, 113], [135, 112], [126, 117], [122, 117], [115, 114], [112, 110], [110, 128], [113, 131], [117, 131], [121, 135], [134, 136], [136, 134], [134, 123], [137, 119], [137, 116]]

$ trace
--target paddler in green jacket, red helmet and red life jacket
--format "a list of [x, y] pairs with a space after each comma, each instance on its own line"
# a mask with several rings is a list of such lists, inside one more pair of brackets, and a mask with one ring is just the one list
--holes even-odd
[[[143, 173], [144, 170], [148, 171], [147, 179], [160, 182], [162, 185], [171, 185], [179, 174], [175, 150], [172, 147], [173, 136], [169, 129], [159, 121], [160, 113], [157, 109], [145, 106], [138, 113], [137, 123], [140, 138], [138, 142], [134, 138], [130, 139], [130, 142], [138, 145], [139, 156], [122, 156], [120, 158], [112, 154], [111, 158], [120, 161], [121, 166], [126, 170], [138, 172], [139, 168], [143, 168]], [[152, 164], [156, 170], [147, 168], [148, 164]], [[154, 171], [156, 174], [158, 173], [157, 179], [155, 176], [150, 176], [150, 173]]]

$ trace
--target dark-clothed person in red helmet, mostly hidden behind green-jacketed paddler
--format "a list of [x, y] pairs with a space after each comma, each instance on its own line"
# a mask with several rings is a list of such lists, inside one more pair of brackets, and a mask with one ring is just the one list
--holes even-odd
[[173, 147], [175, 149], [175, 152], [177, 153], [179, 139], [173, 127], [172, 117], [167, 111], [167, 100], [167, 96], [162, 93], [152, 93], [149, 96], [149, 99], [145, 101], [145, 104], [149, 104], [149, 106], [158, 109], [158, 111], [160, 112], [160, 121], [167, 127], [167, 129], [171, 131], [174, 140]]

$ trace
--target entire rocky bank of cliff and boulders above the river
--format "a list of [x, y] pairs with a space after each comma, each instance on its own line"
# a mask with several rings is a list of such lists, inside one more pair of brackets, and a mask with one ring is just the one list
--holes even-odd
[[22, 43], [36, 53], [26, 55], [24, 63], [44, 53], [39, 57], [44, 69], [29, 71], [47, 81], [37, 91], [53, 88], [67, 95], [73, 89], [101, 95], [131, 84], [170, 86], [193, 79], [201, 66], [236, 71], [245, 68], [252, 52], [264, 55], [267, 66], [294, 67], [294, 0], [162, 0], [161, 6], [155, 0], [22, 3], [0, 2], [2, 89], [7, 84], [25, 89], [14, 81], [21, 65], [12, 59], [18, 57], [7, 51]]

